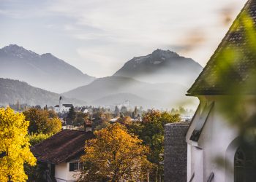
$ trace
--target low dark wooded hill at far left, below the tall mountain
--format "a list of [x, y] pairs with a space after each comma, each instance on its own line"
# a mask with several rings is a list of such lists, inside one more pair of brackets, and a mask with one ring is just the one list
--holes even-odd
[[[10, 103], [27, 103], [31, 106], [55, 106], [59, 104], [60, 95], [54, 92], [32, 87], [26, 82], [13, 79], [0, 78], [0, 105], [7, 106]], [[63, 98], [64, 103], [85, 105], [86, 102], [77, 99]]]

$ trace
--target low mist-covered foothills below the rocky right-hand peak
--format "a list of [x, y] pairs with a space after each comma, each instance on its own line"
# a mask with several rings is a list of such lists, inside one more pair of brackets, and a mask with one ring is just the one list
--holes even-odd
[[131, 106], [170, 108], [189, 100], [185, 96], [186, 92], [187, 87], [180, 84], [150, 84], [127, 77], [109, 76], [63, 95], [97, 106], [115, 105], [129, 100]]

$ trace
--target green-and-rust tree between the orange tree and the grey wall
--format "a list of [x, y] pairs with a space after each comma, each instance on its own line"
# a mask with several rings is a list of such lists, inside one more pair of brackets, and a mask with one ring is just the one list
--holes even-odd
[[164, 134], [165, 124], [170, 122], [180, 122], [179, 114], [171, 114], [167, 111], [150, 110], [144, 114], [142, 123], [131, 124], [127, 126], [129, 131], [138, 135], [143, 140], [143, 144], [149, 147], [148, 160], [155, 164], [154, 174], [152, 178], [159, 178], [163, 174], [162, 162], [164, 153]]

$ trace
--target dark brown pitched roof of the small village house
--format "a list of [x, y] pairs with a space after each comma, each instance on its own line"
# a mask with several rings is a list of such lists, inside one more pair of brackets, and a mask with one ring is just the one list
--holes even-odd
[[85, 141], [94, 138], [93, 132], [62, 130], [31, 147], [38, 161], [59, 164], [83, 154]]

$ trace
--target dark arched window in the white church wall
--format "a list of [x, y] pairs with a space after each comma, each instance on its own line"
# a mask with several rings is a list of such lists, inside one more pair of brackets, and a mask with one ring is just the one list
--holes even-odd
[[235, 182], [256, 181], [256, 155], [254, 147], [239, 147], [234, 159]]

